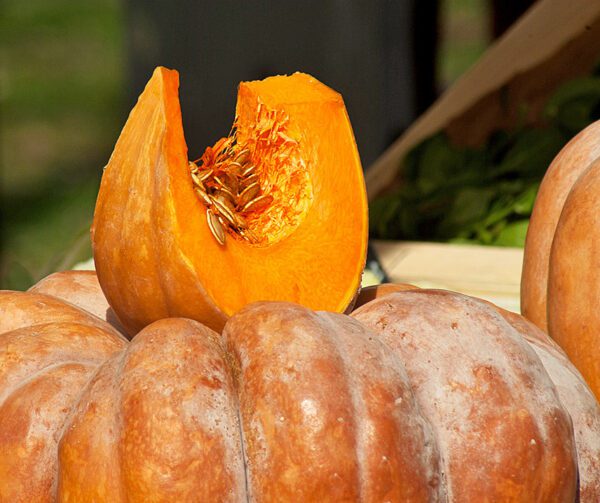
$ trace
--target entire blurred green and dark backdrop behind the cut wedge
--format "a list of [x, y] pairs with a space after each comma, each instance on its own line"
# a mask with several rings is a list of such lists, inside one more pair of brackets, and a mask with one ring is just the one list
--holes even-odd
[[530, 0], [4, 0], [0, 288], [91, 256], [102, 167], [152, 69], [180, 72], [190, 156], [237, 83], [301, 70], [341, 92], [366, 168]]

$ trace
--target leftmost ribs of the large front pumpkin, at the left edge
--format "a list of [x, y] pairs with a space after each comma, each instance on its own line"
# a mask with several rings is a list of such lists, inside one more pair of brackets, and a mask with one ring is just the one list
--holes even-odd
[[0, 501], [53, 501], [73, 402], [125, 340], [73, 306], [21, 292], [0, 293], [0, 327]]

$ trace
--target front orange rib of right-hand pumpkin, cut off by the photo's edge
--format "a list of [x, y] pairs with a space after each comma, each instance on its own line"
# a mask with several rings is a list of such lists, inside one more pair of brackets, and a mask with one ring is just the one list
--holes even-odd
[[600, 399], [600, 159], [571, 189], [556, 228], [548, 277], [548, 325]]

